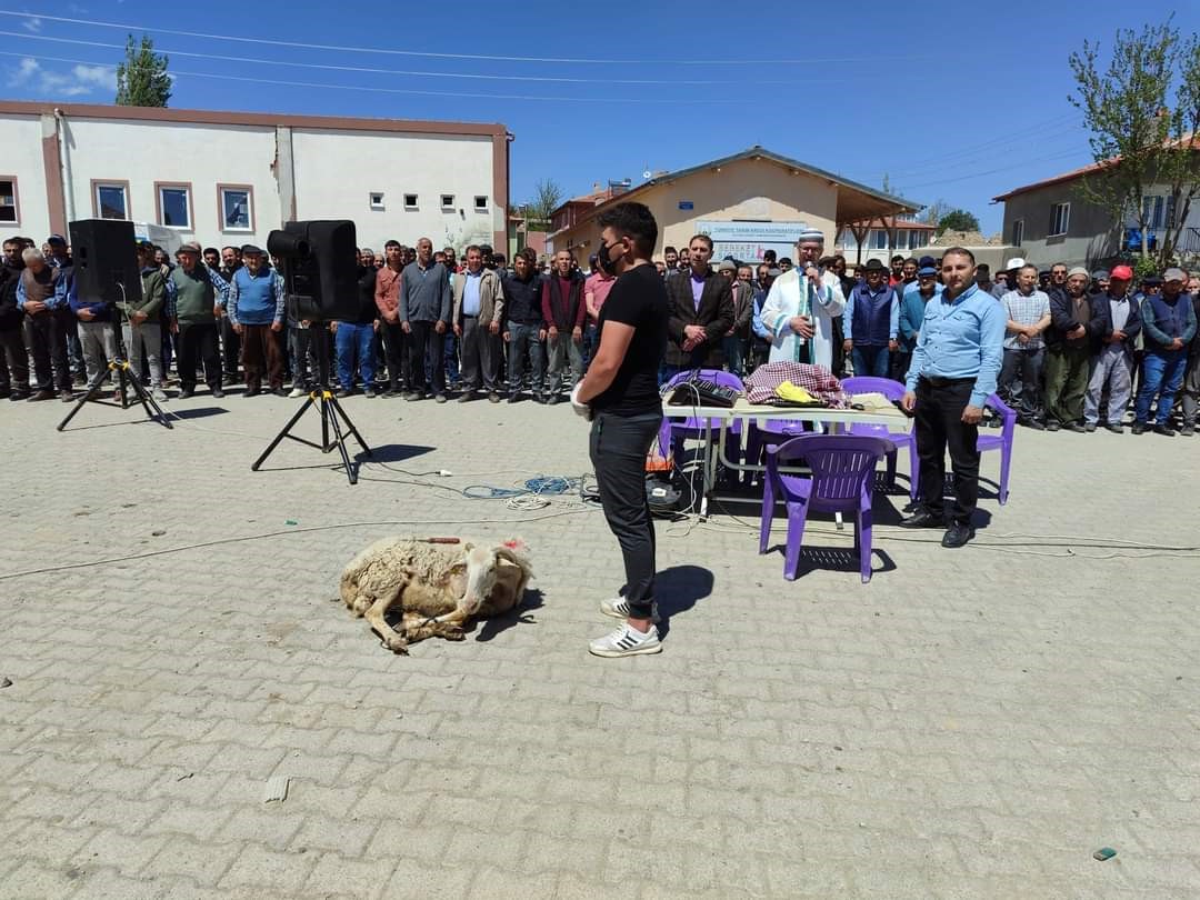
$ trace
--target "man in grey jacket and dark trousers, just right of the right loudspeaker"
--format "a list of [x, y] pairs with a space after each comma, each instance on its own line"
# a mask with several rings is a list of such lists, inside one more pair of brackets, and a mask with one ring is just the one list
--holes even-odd
[[[433, 241], [416, 241], [416, 259], [404, 266], [400, 281], [400, 326], [409, 336], [409, 391], [404, 400], [436, 397], [446, 402], [445, 341], [450, 322], [450, 274], [433, 262]], [[430, 378], [433, 391], [430, 391]]]

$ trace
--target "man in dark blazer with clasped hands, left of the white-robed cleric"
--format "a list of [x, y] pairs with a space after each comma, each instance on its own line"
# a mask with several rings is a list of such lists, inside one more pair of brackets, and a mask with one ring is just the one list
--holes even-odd
[[713, 241], [697, 234], [688, 245], [690, 268], [667, 276], [667, 353], [660, 373], [666, 383], [691, 368], [720, 368], [725, 362], [721, 341], [733, 328], [733, 288], [714, 272], [708, 260]]

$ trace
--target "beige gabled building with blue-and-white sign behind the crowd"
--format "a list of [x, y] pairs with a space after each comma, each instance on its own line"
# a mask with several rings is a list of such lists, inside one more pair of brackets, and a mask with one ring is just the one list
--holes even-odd
[[644, 203], [659, 223], [654, 250], [685, 247], [695, 234], [713, 239], [713, 257], [757, 262], [763, 252], [794, 254], [805, 228], [818, 228], [833, 252], [844, 226], [916, 212], [919, 206], [808, 163], [752, 146], [733, 156], [660, 173], [640, 185], [610, 182], [608, 188], [576, 197], [551, 218], [547, 252], [569, 250], [581, 265], [599, 246], [596, 215], [622, 200]]

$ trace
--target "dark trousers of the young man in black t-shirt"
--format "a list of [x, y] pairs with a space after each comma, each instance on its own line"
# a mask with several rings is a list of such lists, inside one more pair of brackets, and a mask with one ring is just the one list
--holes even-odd
[[650, 618], [654, 607], [654, 520], [646, 497], [646, 454], [661, 424], [661, 413], [599, 413], [592, 422], [589, 451], [600, 505], [625, 559], [623, 594], [635, 619]]

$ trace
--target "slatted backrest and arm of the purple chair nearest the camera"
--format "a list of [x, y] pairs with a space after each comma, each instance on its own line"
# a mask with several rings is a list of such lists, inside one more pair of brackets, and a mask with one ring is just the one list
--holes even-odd
[[812, 472], [809, 493], [814, 509], [827, 512], [857, 509], [870, 487], [881, 457], [894, 445], [883, 438], [857, 434], [804, 434], [780, 444], [768, 455], [767, 467], [776, 475], [780, 466], [803, 458]]

